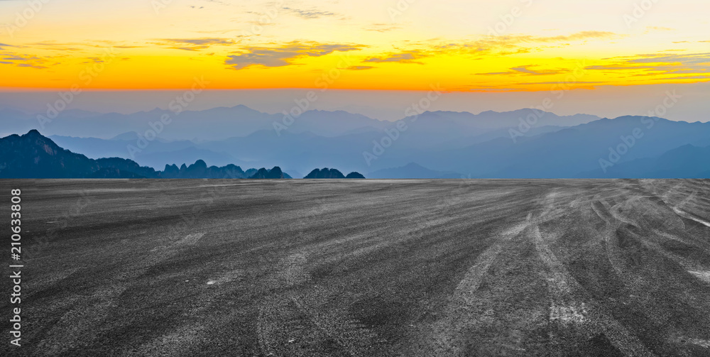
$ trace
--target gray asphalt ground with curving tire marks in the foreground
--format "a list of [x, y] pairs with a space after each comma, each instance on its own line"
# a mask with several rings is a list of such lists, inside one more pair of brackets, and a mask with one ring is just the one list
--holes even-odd
[[709, 180], [13, 188], [2, 356], [710, 356]]

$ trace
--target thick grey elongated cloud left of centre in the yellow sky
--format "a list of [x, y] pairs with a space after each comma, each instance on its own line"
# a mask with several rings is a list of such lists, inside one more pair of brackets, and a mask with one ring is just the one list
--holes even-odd
[[230, 55], [224, 63], [243, 70], [246, 67], [261, 65], [264, 67], [283, 67], [293, 64], [293, 60], [302, 57], [321, 57], [334, 52], [360, 50], [364, 45], [301, 43], [292, 41], [280, 47], [244, 48], [245, 52]]

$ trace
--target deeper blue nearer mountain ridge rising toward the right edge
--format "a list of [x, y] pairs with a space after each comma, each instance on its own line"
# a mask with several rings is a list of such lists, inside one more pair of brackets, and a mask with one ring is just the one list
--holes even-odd
[[410, 158], [433, 170], [452, 170], [476, 178], [574, 178], [600, 169], [600, 160], [611, 161], [617, 154], [614, 165], [621, 166], [636, 159], [657, 158], [682, 145], [710, 145], [710, 123], [621, 116], [517, 139], [497, 138]]

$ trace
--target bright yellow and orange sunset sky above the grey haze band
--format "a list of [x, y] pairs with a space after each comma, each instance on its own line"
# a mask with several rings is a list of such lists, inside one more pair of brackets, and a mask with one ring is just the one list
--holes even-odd
[[0, 0], [0, 90], [202, 80], [210, 90], [662, 97], [710, 80], [707, 13], [706, 0]]

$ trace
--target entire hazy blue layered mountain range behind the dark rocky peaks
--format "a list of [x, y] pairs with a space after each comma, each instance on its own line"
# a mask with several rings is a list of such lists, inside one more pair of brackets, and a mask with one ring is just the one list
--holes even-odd
[[[389, 122], [344, 111], [306, 111], [287, 126], [283, 114], [236, 106], [185, 111], [148, 140], [145, 129], [160, 128], [156, 117], [166, 113], [67, 110], [48, 130], [60, 148], [97, 163], [125, 158], [156, 172], [169, 163], [161, 175], [180, 172], [172, 163], [185, 162], [205, 172], [206, 163], [231, 167], [224, 170], [277, 164], [295, 177], [323, 166], [370, 178], [708, 177], [710, 172], [704, 159], [710, 123], [648, 116], [427, 111]], [[9, 124], [4, 131], [36, 124], [20, 112], [0, 111], [0, 119]], [[98, 125], [102, 121], [107, 126]], [[141, 126], [143, 134], [126, 131]]]

